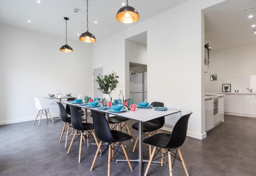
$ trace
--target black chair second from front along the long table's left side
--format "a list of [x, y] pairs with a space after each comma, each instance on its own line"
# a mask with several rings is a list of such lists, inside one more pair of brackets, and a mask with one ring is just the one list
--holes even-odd
[[[80, 118], [79, 112], [76, 109], [76, 106], [70, 106], [70, 111], [71, 111], [71, 124], [73, 126], [73, 128], [76, 130], [73, 136], [73, 139], [69, 145], [68, 148], [68, 152], [70, 151], [73, 142], [79, 138], [80, 134], [80, 146], [79, 146], [79, 157], [78, 157], [78, 163], [80, 163], [81, 160], [81, 151], [82, 151], [82, 145], [87, 141], [87, 145], [89, 146], [89, 139], [91, 139], [92, 141], [95, 141], [97, 146], [99, 146], [99, 143], [97, 141], [97, 138], [94, 134], [94, 130], [93, 130], [93, 124], [92, 123], [83, 123], [82, 119]], [[92, 130], [91, 133], [89, 133], [88, 131]], [[84, 132], [86, 132], [86, 135], [84, 135]], [[76, 135], [78, 136], [76, 138]], [[90, 136], [93, 135], [93, 138], [90, 138]], [[84, 143], [83, 143], [83, 139], [84, 139]]]

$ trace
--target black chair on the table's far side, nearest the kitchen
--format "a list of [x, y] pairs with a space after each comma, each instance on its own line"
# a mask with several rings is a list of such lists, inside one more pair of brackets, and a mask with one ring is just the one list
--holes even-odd
[[[162, 102], [153, 102], [151, 103], [153, 107], [164, 107], [164, 103]], [[142, 132], [143, 132], [143, 137], [148, 137], [151, 135], [154, 135], [158, 133], [158, 129], [162, 128], [164, 126], [164, 117], [159, 117], [153, 120], [149, 120], [142, 125]], [[132, 128], [137, 130], [139, 129], [139, 123], [135, 123], [132, 125]], [[132, 152], [134, 152], [136, 145], [138, 143], [139, 136], [137, 136], [136, 142], [134, 144], [134, 147], [132, 149]], [[151, 155], [151, 146], [149, 145], [149, 155]]]

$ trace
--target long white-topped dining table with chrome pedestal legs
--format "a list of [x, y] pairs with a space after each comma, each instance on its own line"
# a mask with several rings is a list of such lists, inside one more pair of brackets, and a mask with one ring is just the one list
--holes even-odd
[[[70, 102], [62, 102], [62, 103], [66, 103], [69, 105], [74, 105], [77, 107], [81, 107], [85, 109], [85, 119], [87, 119], [87, 110], [94, 110], [94, 111], [100, 111], [100, 112], [104, 112], [106, 113], [106, 118], [108, 120], [109, 118], [109, 114], [112, 115], [116, 115], [116, 116], [120, 116], [120, 117], [124, 117], [127, 119], [132, 119], [135, 121], [138, 121], [139, 126], [138, 126], [138, 136], [139, 136], [139, 156], [138, 159], [129, 159], [129, 161], [135, 161], [139, 163], [139, 176], [141, 176], [141, 168], [142, 168], [142, 163], [143, 162], [148, 162], [148, 160], [143, 159], [143, 148], [142, 148], [142, 127], [143, 127], [143, 123], [149, 121], [149, 120], [153, 120], [159, 117], [164, 117], [164, 116], [168, 116], [171, 114], [175, 114], [175, 113], [179, 113], [180, 110], [172, 110], [172, 109], [168, 109], [167, 110], [155, 110], [155, 108], [138, 108], [136, 107], [135, 111], [130, 111], [130, 110], [126, 110], [124, 112], [110, 112], [108, 110], [100, 110], [97, 107], [88, 107], [87, 105], [79, 105], [79, 104], [72, 104]], [[116, 160], [116, 162], [118, 161], [127, 161], [127, 160]]]

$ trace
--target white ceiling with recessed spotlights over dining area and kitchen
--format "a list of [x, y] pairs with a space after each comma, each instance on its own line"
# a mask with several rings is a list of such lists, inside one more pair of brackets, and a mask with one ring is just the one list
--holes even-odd
[[[89, 0], [89, 32], [100, 41], [185, 1], [187, 0], [161, 0], [161, 3], [156, 3], [155, 0], [129, 0], [129, 5], [139, 12], [140, 19], [132, 24], [123, 24], [118, 22], [115, 16], [123, 6], [122, 3], [126, 4], [125, 0]], [[86, 0], [41, 2], [39, 4], [36, 0], [0, 0], [0, 23], [65, 38], [63, 18], [68, 17], [68, 40], [78, 41], [77, 34], [86, 32]], [[251, 26], [256, 24], [256, 9], [244, 12], [244, 9], [250, 6], [256, 8], [256, 0], [226, 0], [204, 9], [205, 43], [209, 43], [212, 50], [255, 44], [256, 31], [253, 30], [256, 30], [256, 27]], [[73, 12], [74, 8], [77, 13]], [[251, 14], [254, 17], [249, 19]], [[145, 32], [128, 40], [146, 45], [146, 36]]]

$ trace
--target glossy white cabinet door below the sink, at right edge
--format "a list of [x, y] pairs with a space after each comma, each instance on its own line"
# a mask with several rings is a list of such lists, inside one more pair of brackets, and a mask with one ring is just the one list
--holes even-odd
[[239, 94], [239, 113], [256, 115], [256, 95]]

